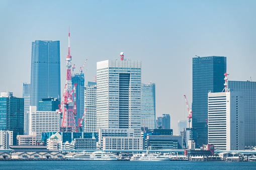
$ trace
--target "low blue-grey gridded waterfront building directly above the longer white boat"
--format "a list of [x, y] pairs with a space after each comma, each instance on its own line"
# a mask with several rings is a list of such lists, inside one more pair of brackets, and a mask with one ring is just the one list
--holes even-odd
[[75, 138], [73, 142], [74, 149], [96, 149], [97, 139], [93, 138]]

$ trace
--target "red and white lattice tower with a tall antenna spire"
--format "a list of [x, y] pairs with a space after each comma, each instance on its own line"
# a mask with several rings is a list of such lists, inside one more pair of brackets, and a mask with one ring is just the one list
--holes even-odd
[[[66, 84], [60, 104], [60, 114], [62, 115], [61, 131], [74, 132], [77, 131], [75, 126], [75, 117], [76, 117], [76, 103], [75, 103], [75, 87], [77, 84], [74, 84], [72, 89], [71, 82], [71, 56], [70, 56], [70, 33], [68, 28], [68, 55], [66, 57], [66, 67], [67, 67], [67, 76]], [[74, 93], [74, 99], [72, 94]]]

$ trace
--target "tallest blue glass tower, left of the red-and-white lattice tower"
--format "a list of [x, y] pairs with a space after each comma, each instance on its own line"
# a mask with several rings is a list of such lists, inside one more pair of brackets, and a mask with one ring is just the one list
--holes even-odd
[[30, 105], [38, 108], [38, 102], [49, 97], [61, 97], [59, 41], [36, 40], [32, 42]]

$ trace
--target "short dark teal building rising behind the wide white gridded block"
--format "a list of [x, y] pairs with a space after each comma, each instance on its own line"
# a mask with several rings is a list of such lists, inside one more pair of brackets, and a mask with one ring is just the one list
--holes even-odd
[[60, 100], [58, 98], [45, 98], [39, 101], [38, 111], [56, 111], [59, 109]]

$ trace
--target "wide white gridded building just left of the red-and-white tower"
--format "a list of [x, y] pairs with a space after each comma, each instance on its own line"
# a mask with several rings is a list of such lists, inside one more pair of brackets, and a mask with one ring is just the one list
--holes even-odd
[[30, 106], [29, 134], [36, 132], [36, 140], [41, 140], [42, 132], [59, 132], [60, 114], [56, 111], [37, 111]]

